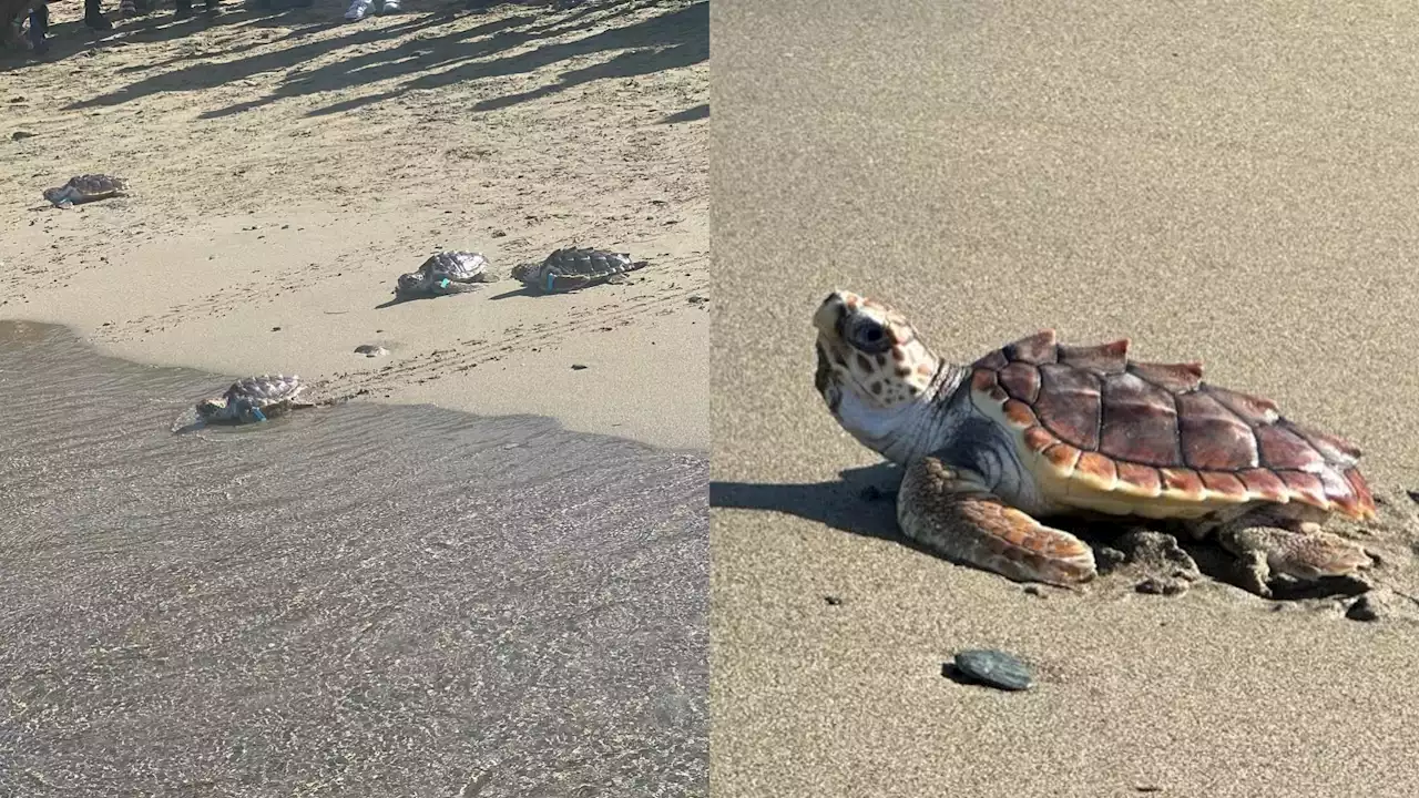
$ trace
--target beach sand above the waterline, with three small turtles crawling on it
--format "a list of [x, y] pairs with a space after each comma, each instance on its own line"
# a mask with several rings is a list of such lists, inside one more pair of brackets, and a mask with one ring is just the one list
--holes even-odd
[[[228, 7], [98, 37], [55, 3], [54, 50], [9, 62], [0, 318], [140, 362], [708, 444], [707, 3]], [[40, 197], [82, 172], [133, 196]], [[551, 297], [507, 277], [559, 246], [651, 267]], [[379, 307], [441, 248], [504, 280]]]

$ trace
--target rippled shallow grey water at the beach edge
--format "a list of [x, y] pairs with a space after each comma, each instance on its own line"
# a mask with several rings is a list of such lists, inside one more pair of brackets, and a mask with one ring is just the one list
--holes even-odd
[[708, 469], [0, 322], [0, 795], [707, 794]]

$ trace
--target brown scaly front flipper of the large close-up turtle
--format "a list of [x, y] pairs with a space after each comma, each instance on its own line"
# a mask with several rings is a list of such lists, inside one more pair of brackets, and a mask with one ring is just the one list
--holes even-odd
[[937, 457], [907, 466], [897, 496], [902, 532], [946, 559], [1016, 582], [1077, 585], [1094, 578], [1094, 552], [1046, 527]]

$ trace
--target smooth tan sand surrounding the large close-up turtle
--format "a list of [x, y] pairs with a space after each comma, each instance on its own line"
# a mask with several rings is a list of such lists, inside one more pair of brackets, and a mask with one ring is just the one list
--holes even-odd
[[[712, 794], [1419, 794], [1406, 599], [1034, 596], [901, 545], [809, 324], [841, 287], [958, 362], [1200, 358], [1365, 450], [1412, 588], [1419, 11], [966, 6], [714, 3]], [[1040, 686], [944, 679], [973, 646]]]

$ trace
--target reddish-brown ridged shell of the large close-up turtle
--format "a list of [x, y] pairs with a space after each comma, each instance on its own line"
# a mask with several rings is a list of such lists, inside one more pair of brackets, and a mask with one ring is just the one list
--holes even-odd
[[1128, 339], [1067, 346], [1047, 329], [972, 364], [971, 388], [1017, 432], [1037, 474], [1128, 497], [1115, 507], [1298, 501], [1375, 515], [1359, 449], [1269, 399], [1203, 382], [1202, 364], [1130, 361]]

